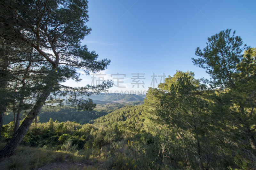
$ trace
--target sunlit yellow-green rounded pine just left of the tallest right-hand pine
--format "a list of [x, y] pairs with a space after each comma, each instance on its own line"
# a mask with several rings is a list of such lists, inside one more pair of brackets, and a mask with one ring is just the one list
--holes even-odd
[[177, 71], [158, 87], [160, 89], [148, 90], [145, 105], [150, 111], [147, 113], [151, 120], [149, 126], [152, 124], [151, 129], [163, 138], [163, 154], [174, 157], [177, 153], [171, 148], [186, 145], [188, 152], [197, 153], [197, 163], [203, 169], [202, 145], [206, 142], [205, 129], [210, 123], [206, 116], [207, 102], [202, 98], [206, 86], [194, 78], [193, 72]]

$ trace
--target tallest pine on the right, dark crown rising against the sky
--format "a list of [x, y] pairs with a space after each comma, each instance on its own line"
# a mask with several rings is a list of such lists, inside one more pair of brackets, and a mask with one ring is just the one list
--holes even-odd
[[[234, 130], [236, 135], [240, 136], [240, 142], [250, 145], [256, 151], [255, 50], [250, 47], [245, 49], [246, 45], [243, 45], [241, 37], [235, 36], [235, 31], [230, 33], [231, 30], [227, 29], [208, 38], [203, 51], [199, 47], [196, 49], [199, 58], [192, 60], [196, 66], [206, 69], [206, 73], [210, 74], [211, 79], [205, 82], [209, 83], [212, 89], [224, 90], [220, 91], [221, 95], [229, 99], [230, 111], [223, 115], [229, 120], [230, 124], [227, 126], [236, 126]], [[245, 54], [242, 53], [244, 50]]]

